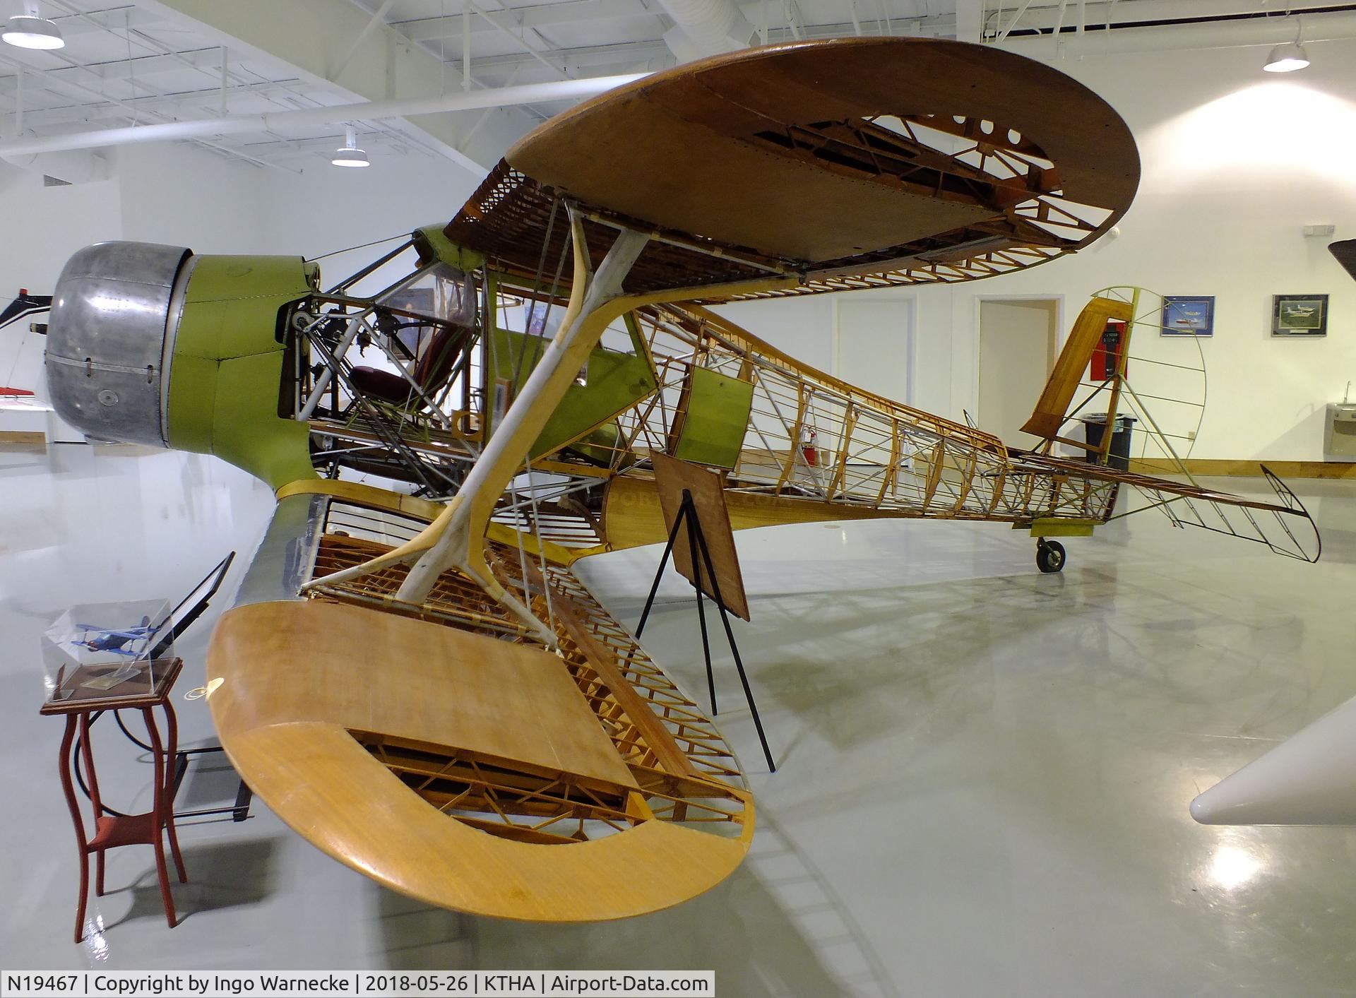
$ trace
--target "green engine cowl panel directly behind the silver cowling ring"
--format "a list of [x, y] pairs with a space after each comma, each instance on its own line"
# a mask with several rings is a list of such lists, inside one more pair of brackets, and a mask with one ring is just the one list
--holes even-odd
[[273, 488], [315, 477], [309, 428], [278, 415], [278, 312], [315, 290], [308, 264], [198, 256], [191, 266], [170, 370], [170, 446], [216, 454]]

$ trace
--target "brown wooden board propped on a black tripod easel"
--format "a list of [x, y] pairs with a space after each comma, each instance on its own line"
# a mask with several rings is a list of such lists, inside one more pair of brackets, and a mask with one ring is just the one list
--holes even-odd
[[[717, 472], [706, 471], [687, 461], [652, 453], [655, 465], [655, 485], [659, 490], [659, 504], [664, 511], [664, 526], [673, 533], [678, 510], [682, 507], [682, 494], [692, 495], [701, 533], [711, 552], [711, 567], [720, 587], [720, 602], [736, 617], [749, 620], [749, 598], [744, 595], [744, 578], [739, 571], [739, 555], [735, 551], [735, 532], [730, 526], [730, 511], [725, 508], [725, 483]], [[697, 584], [697, 572], [692, 563], [692, 548], [679, 532], [674, 542], [674, 568], [689, 582]], [[716, 587], [701, 574], [701, 591], [716, 599]]]

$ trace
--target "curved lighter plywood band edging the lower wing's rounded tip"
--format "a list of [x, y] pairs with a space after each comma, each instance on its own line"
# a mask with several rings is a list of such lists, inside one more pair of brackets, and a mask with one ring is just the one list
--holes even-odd
[[715, 887], [747, 852], [663, 822], [564, 846], [495, 838], [438, 814], [332, 724], [281, 724], [222, 743], [255, 793], [313, 846], [454, 911], [530, 922], [643, 915]]

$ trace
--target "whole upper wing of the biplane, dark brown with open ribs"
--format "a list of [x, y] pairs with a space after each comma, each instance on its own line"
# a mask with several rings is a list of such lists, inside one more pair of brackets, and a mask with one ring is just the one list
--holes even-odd
[[[769, 46], [645, 77], [509, 151], [449, 224], [510, 268], [557, 259], [557, 198], [659, 239], [626, 289], [965, 281], [1077, 250], [1139, 182], [1130, 129], [1033, 60], [913, 38]], [[542, 250], [551, 233], [549, 245]], [[721, 297], [717, 293], [715, 297]]]

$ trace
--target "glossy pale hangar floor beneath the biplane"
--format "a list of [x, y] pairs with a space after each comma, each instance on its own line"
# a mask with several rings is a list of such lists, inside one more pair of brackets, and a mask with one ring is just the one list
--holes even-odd
[[[1051, 576], [998, 525], [742, 536], [754, 618], [738, 637], [780, 770], [765, 772], [721, 655], [723, 730], [751, 773], [758, 834], [734, 877], [673, 911], [551, 927], [428, 910], [255, 803], [243, 824], [182, 829], [178, 929], [151, 850], [127, 847], [73, 945], [76, 849], [61, 724], [37, 713], [38, 635], [72, 602], [172, 595], [229, 548], [247, 560], [271, 499], [201, 457], [5, 456], [0, 965], [715, 968], [730, 998], [1353, 993], [1356, 833], [1207, 829], [1186, 812], [1356, 694], [1356, 487], [1296, 484], [1323, 527], [1318, 565], [1153, 513], [1069, 542]], [[656, 559], [582, 574], [633, 621]], [[700, 690], [693, 606], [666, 594], [647, 645]], [[209, 629], [180, 648], [179, 693]], [[179, 716], [188, 743], [210, 742], [201, 701]], [[144, 805], [149, 766], [111, 725], [96, 740], [106, 795]], [[229, 801], [213, 758], [182, 807]]]

